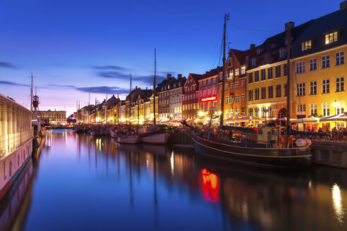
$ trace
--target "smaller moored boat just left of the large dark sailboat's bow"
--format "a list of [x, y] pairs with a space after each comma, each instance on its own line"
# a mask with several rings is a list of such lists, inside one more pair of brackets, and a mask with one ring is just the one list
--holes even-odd
[[166, 144], [169, 139], [169, 128], [166, 125], [154, 125], [140, 135], [140, 142], [145, 144]]

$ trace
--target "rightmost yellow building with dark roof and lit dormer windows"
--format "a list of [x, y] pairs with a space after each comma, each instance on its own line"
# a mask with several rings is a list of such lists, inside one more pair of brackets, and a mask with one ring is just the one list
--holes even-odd
[[[293, 111], [296, 118], [334, 116], [347, 101], [347, 2], [310, 23], [293, 44]], [[334, 127], [335, 122], [319, 125]], [[337, 127], [346, 126], [336, 123]]]

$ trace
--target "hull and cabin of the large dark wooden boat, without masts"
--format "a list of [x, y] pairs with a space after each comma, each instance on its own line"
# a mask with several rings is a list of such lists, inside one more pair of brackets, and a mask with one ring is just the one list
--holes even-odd
[[226, 136], [223, 138], [195, 130], [193, 142], [195, 151], [202, 156], [268, 166], [309, 166], [312, 156], [310, 146], [294, 146], [292, 142], [291, 147], [284, 147], [286, 142], [282, 137], [285, 132], [285, 127], [259, 127], [256, 133], [241, 133], [238, 139], [228, 140]]

